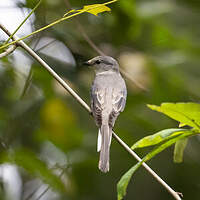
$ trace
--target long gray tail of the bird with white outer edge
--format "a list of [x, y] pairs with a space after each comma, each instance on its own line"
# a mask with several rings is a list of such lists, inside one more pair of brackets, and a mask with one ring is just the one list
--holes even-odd
[[100, 144], [98, 142], [98, 149], [100, 150], [99, 169], [106, 173], [109, 171], [112, 128], [108, 124], [102, 125], [98, 137], [101, 137], [100, 140], [98, 138], [98, 141], [100, 141]]

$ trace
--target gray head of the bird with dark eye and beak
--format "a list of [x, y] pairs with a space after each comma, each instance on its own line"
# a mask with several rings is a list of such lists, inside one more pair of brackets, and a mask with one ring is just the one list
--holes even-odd
[[119, 72], [119, 65], [117, 61], [110, 56], [97, 56], [88, 60], [84, 64], [88, 66], [93, 66], [95, 68], [96, 73], [106, 71]]

